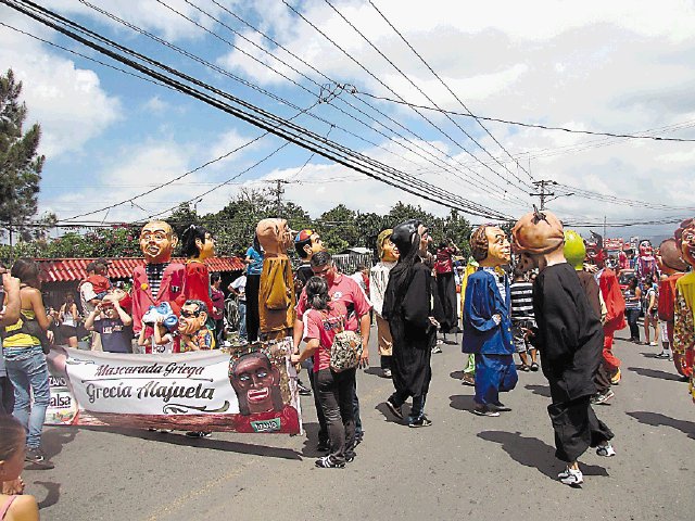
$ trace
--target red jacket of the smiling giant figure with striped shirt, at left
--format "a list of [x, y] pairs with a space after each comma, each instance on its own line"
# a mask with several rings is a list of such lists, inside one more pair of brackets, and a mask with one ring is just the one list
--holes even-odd
[[180, 305], [177, 298], [184, 289], [184, 271], [185, 267], [179, 263], [170, 263], [162, 275], [162, 282], [156, 298], [152, 296], [152, 290], [148, 281], [144, 266], [138, 266], [132, 271], [132, 330], [139, 333], [142, 329], [142, 316], [150, 308], [163, 302], [172, 305], [175, 315], [180, 312]]

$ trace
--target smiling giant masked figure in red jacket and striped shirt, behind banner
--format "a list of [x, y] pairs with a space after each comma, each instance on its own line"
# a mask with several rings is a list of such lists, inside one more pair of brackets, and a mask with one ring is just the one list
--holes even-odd
[[178, 315], [180, 304], [176, 303], [184, 289], [185, 267], [172, 263], [172, 252], [178, 239], [172, 227], [163, 220], [148, 223], [140, 232], [140, 250], [144, 255], [144, 266], [132, 271], [132, 329], [142, 329], [142, 316], [150, 306], [168, 302]]

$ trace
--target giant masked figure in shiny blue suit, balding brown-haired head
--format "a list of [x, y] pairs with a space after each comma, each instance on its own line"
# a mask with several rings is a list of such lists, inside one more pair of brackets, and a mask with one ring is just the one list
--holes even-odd
[[500, 416], [509, 410], [500, 392], [511, 391], [518, 380], [514, 365], [509, 278], [495, 268], [511, 259], [509, 241], [496, 226], [480, 226], [470, 237], [478, 270], [468, 277], [464, 301], [464, 353], [476, 355], [473, 412]]

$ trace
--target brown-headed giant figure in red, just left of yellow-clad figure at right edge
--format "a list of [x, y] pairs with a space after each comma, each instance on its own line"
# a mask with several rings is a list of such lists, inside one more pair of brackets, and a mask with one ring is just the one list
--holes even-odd
[[[675, 314], [675, 284], [678, 280], [687, 271], [687, 263], [683, 260], [681, 251], [672, 237], [661, 241], [656, 254], [656, 262], [659, 265], [661, 277], [659, 278], [659, 320], [665, 323], [668, 342], [661, 339], [662, 351], [658, 358], [668, 358], [669, 348], [673, 347], [673, 320]], [[682, 356], [673, 353], [675, 369], [681, 372]], [[682, 373], [681, 373], [682, 374]]]

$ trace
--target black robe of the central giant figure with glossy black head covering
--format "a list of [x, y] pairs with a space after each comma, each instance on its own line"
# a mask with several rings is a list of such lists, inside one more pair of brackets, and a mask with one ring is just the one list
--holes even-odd
[[391, 369], [393, 385], [401, 396], [427, 394], [432, 378], [430, 358], [437, 342], [432, 315], [430, 269], [417, 262], [413, 267], [391, 270], [383, 296], [383, 318], [393, 338]]

